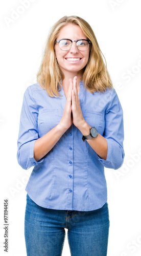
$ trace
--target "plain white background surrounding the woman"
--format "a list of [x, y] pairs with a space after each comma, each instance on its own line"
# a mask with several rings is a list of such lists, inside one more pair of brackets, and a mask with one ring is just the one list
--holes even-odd
[[[110, 216], [107, 255], [141, 255], [140, 7], [139, 0], [1, 3], [1, 255], [6, 254], [4, 199], [8, 198], [8, 253], [26, 256], [25, 187], [32, 168], [23, 170], [16, 159], [21, 104], [26, 88], [36, 82], [48, 32], [64, 15], [78, 15], [92, 27], [124, 111], [124, 165], [119, 170], [105, 169]], [[67, 229], [62, 255], [70, 255]]]

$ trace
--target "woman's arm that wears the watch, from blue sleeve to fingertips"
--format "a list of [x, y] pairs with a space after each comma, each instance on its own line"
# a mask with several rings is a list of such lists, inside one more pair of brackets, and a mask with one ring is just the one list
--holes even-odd
[[[90, 125], [83, 118], [80, 102], [77, 93], [76, 78], [74, 81], [72, 93], [72, 112], [73, 122], [86, 136], [89, 134]], [[117, 169], [123, 163], [124, 130], [123, 130], [123, 111], [120, 101], [112, 91], [111, 99], [105, 111], [105, 131], [103, 136], [98, 134], [97, 138], [87, 140], [92, 149], [97, 153], [99, 161], [107, 168]]]

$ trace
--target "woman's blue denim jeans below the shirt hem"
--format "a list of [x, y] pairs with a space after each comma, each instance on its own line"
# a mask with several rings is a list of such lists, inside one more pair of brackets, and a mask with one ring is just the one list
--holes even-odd
[[108, 204], [98, 210], [54, 210], [34, 203], [27, 195], [25, 239], [28, 256], [60, 256], [67, 231], [72, 256], [106, 256]]

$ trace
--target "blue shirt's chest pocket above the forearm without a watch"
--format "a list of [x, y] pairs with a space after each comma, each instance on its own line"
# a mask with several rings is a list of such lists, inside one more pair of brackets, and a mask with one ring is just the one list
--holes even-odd
[[61, 120], [63, 110], [44, 109], [38, 115], [38, 133], [39, 137], [52, 130]]

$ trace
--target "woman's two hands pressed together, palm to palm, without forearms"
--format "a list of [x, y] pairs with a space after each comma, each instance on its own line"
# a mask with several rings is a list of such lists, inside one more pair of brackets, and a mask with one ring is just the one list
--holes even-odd
[[80, 107], [76, 76], [73, 80], [69, 79], [66, 104], [60, 121], [61, 126], [64, 127], [65, 130], [67, 130], [73, 123], [78, 129], [86, 123]]

